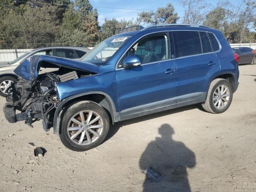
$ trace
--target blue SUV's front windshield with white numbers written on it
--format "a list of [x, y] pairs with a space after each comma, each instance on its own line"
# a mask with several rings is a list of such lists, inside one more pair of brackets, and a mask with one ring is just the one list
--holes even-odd
[[96, 65], [104, 65], [114, 55], [114, 53], [126, 42], [126, 40], [128, 40], [128, 38], [130, 38], [130, 36], [110, 37], [94, 47], [80, 60], [90, 62]]

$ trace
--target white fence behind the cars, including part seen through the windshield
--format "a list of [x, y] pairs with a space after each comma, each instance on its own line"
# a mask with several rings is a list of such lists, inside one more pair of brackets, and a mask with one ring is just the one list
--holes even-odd
[[[250, 47], [256, 49], [256, 43], [242, 43], [242, 44], [230, 44], [231, 47]], [[89, 47], [92, 49], [93, 47]], [[31, 51], [32, 49], [0, 49], [0, 62], [10, 62], [18, 58], [24, 53]], [[98, 53], [99, 58], [106, 58], [115, 52], [115, 48], [106, 48], [106, 50]]]

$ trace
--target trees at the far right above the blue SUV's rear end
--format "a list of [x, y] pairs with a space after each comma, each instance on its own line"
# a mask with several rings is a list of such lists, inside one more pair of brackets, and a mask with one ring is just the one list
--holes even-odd
[[256, 42], [256, 33], [250, 31], [255, 19], [256, 2], [246, 0], [238, 6], [224, 2], [206, 14], [203, 24], [222, 31], [230, 43], [248, 43]]

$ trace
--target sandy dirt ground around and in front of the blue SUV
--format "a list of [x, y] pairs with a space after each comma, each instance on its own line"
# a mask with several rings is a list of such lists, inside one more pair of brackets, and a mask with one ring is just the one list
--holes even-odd
[[[256, 192], [256, 66], [240, 66], [239, 82], [223, 114], [194, 105], [118, 122], [86, 152], [65, 148], [42, 122], [9, 124], [0, 110], [0, 191]], [[161, 182], [142, 173], [149, 166]]]

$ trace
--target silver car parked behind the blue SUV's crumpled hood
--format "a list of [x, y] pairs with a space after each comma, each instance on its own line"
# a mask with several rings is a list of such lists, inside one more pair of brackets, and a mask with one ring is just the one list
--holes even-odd
[[26, 58], [33, 55], [50, 55], [57, 57], [64, 57], [70, 59], [81, 58], [90, 49], [87, 47], [45, 47], [32, 50], [22, 56], [16, 58], [12, 62], [4, 62], [0, 64], [0, 96], [5, 97], [8, 94], [8, 88], [17, 80], [18, 76], [13, 70]]

